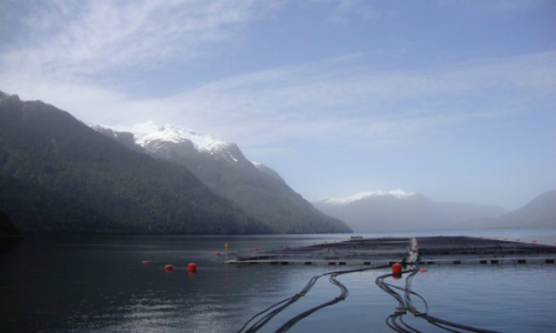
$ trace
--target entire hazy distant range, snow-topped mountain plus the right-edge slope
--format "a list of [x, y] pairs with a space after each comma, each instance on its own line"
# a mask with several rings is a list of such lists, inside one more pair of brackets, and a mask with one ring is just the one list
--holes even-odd
[[314, 205], [346, 222], [355, 232], [556, 228], [555, 193], [542, 194], [514, 212], [492, 205], [434, 202], [401, 190], [325, 199]]

